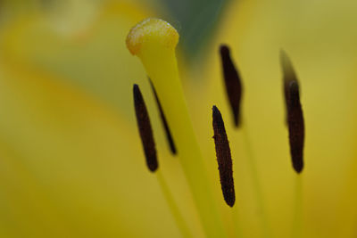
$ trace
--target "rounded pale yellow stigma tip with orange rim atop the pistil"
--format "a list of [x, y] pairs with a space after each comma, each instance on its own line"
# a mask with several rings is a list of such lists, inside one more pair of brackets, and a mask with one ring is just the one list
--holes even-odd
[[156, 18], [148, 18], [137, 23], [127, 37], [127, 47], [134, 55], [140, 53], [142, 46], [147, 43], [175, 49], [178, 42], [178, 31], [170, 23]]

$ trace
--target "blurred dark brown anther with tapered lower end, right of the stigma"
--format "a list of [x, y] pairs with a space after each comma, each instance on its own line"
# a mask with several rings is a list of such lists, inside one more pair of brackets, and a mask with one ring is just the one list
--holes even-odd
[[223, 68], [223, 78], [230, 108], [233, 112], [235, 126], [240, 126], [240, 103], [242, 99], [242, 83], [236, 66], [230, 57], [227, 45], [220, 45], [220, 59]]

